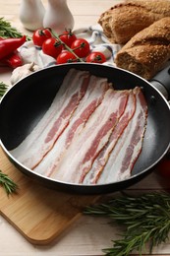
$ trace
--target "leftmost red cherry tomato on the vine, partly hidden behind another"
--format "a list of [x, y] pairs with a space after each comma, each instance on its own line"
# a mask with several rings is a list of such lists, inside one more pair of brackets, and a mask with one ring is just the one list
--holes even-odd
[[52, 36], [51, 32], [48, 29], [36, 30], [33, 32], [32, 41], [37, 46], [42, 46], [43, 42]]

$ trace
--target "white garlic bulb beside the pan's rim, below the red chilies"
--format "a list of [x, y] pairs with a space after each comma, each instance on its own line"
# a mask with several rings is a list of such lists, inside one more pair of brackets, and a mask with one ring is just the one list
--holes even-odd
[[40, 68], [33, 62], [14, 69], [11, 76], [11, 84], [16, 84], [19, 80], [27, 77], [28, 75], [39, 69]]

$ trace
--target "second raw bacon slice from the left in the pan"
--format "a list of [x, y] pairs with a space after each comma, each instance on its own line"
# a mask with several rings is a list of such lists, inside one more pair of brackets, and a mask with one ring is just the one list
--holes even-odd
[[68, 127], [61, 134], [53, 149], [49, 151], [45, 158], [34, 168], [36, 172], [46, 176], [51, 175], [53, 172], [54, 175], [55, 171], [57, 171], [59, 160], [61, 160], [64, 152], [68, 149], [76, 135], [81, 132], [85, 126], [85, 122], [101, 103], [109, 87], [110, 85], [107, 79], [97, 78], [95, 76], [90, 77], [85, 96], [74, 112]]

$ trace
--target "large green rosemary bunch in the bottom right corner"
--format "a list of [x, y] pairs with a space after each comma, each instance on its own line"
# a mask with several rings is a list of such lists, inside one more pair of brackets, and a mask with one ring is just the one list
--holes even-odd
[[128, 256], [134, 250], [140, 255], [149, 246], [166, 242], [170, 231], [170, 195], [148, 193], [139, 197], [123, 196], [106, 204], [87, 207], [85, 214], [104, 216], [126, 227], [122, 238], [113, 240], [113, 247], [103, 249], [108, 256]]

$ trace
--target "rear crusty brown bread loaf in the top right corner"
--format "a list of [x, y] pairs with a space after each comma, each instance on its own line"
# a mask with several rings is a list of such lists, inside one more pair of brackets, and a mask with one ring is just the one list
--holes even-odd
[[98, 23], [112, 43], [124, 44], [164, 17], [170, 17], [169, 0], [125, 0], [103, 13]]

